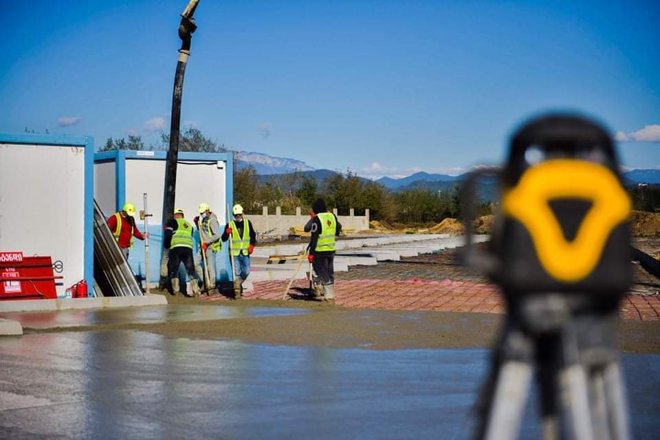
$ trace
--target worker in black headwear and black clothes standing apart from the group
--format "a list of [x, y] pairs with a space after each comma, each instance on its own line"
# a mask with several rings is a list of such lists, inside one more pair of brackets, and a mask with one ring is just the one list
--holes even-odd
[[311, 217], [305, 224], [305, 232], [311, 232], [309, 255], [307, 259], [314, 266], [314, 271], [323, 288], [323, 299], [335, 301], [335, 240], [342, 231], [342, 225], [334, 213], [327, 212], [325, 201], [319, 198], [314, 202], [309, 213]]

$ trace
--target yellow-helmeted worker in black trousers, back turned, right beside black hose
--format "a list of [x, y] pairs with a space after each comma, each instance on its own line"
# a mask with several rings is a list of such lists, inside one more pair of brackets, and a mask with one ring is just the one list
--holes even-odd
[[[174, 218], [168, 220], [165, 225], [164, 246], [168, 252], [167, 271], [168, 278], [172, 282], [172, 293], [179, 294], [179, 265], [184, 264], [188, 273], [188, 284], [186, 294], [188, 297], [199, 295], [199, 278], [195, 273], [195, 263], [192, 258], [192, 224], [184, 218], [182, 209], [174, 210]], [[192, 293], [191, 293], [192, 292]]]

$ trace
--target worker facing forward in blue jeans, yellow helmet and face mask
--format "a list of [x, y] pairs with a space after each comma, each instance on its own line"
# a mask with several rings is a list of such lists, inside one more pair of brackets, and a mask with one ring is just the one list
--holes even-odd
[[239, 299], [243, 281], [250, 275], [250, 255], [256, 244], [256, 233], [252, 223], [247, 218], [243, 218], [241, 205], [234, 205], [232, 212], [234, 220], [225, 224], [222, 241], [226, 242], [231, 235], [234, 258], [234, 298]]

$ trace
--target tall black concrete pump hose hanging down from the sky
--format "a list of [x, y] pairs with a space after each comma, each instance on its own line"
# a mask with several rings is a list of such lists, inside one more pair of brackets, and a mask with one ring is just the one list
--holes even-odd
[[[181, 38], [181, 49], [179, 49], [179, 60], [177, 61], [177, 71], [174, 76], [174, 91], [172, 94], [172, 119], [170, 121], [170, 145], [167, 151], [165, 162], [165, 185], [163, 196], [163, 226], [174, 216], [174, 201], [177, 187], [177, 157], [179, 155], [179, 127], [181, 124], [181, 95], [184, 89], [184, 74], [186, 65], [190, 56], [190, 43], [192, 33], [197, 30], [195, 19], [192, 14], [195, 13], [199, 0], [190, 0], [184, 12], [181, 13], [181, 23], [179, 23], [179, 38]], [[162, 248], [161, 259], [164, 258], [166, 249]], [[164, 281], [161, 279], [161, 281]]]

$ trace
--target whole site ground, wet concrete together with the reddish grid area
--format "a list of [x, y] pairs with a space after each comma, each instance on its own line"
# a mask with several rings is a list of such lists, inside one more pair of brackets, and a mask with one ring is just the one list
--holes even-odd
[[[654, 244], [647, 242], [648, 246]], [[503, 319], [455, 250], [168, 305], [19, 312], [0, 343], [0, 432], [12, 439], [467, 439]], [[635, 439], [660, 432], [657, 278], [635, 266], [619, 348]], [[521, 439], [540, 437], [533, 391]], [[441, 434], [440, 434], [441, 433]], [[2, 437], [2, 436], [0, 436]]]

